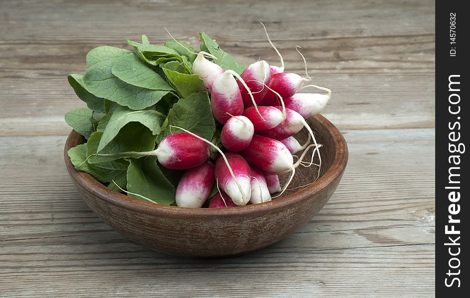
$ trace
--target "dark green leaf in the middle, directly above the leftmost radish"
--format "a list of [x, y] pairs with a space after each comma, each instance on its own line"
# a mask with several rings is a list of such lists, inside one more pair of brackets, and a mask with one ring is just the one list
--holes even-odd
[[168, 113], [163, 136], [181, 132], [176, 128], [170, 129], [170, 125], [184, 128], [203, 136], [206, 140], [211, 140], [215, 131], [215, 122], [207, 92], [192, 93], [175, 103]]

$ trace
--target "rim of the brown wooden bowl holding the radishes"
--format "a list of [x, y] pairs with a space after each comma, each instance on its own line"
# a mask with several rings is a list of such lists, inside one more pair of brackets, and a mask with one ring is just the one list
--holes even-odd
[[[330, 183], [333, 183], [335, 179], [340, 176], [348, 162], [348, 147], [346, 141], [344, 140], [341, 132], [334, 126], [328, 119], [322, 115], [315, 115], [309, 119], [307, 122], [319, 122], [320, 125], [326, 127], [332, 137], [334, 144], [336, 145], [336, 153], [333, 158], [333, 162], [328, 170], [314, 183], [284, 197], [272, 200], [269, 202], [255, 204], [255, 205], [246, 205], [239, 206], [236, 208], [188, 208], [188, 207], [178, 207], [178, 206], [169, 206], [154, 204], [146, 202], [143, 200], [138, 200], [122, 193], [113, 191], [97, 180], [95, 180], [91, 175], [86, 172], [79, 171], [75, 169], [74, 165], [70, 161], [70, 157], [67, 151], [76, 146], [76, 140], [81, 137], [80, 134], [72, 130], [69, 134], [65, 148], [64, 148], [64, 159], [69, 171], [69, 174], [72, 179], [76, 180], [77, 183], [81, 184], [83, 187], [91, 190], [95, 195], [103, 198], [105, 201], [124, 207], [135, 210], [137, 212], [155, 214], [155, 213], [165, 213], [168, 215], [178, 215], [181, 217], [194, 217], [194, 216], [217, 216], [217, 217], [233, 217], [233, 216], [246, 216], [253, 213], [259, 212], [275, 212], [280, 209], [285, 208], [288, 205], [295, 204], [300, 202], [313, 194], [322, 191]], [[74, 143], [74, 144], [72, 144]]]

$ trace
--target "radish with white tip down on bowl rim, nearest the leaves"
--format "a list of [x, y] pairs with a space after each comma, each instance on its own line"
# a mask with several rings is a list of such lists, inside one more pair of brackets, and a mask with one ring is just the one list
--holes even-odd
[[186, 170], [178, 182], [176, 204], [179, 207], [200, 208], [214, 185], [214, 167], [205, 162]]

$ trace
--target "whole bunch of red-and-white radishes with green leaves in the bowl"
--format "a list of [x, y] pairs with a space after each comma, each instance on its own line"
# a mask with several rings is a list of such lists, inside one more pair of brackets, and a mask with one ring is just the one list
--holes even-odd
[[[65, 117], [87, 140], [68, 151], [75, 168], [134, 198], [193, 208], [209, 197], [209, 208], [271, 201], [317, 156], [314, 182], [321, 145], [305, 119], [324, 108], [331, 91], [309, 85], [326, 94], [298, 93], [311, 80], [305, 59], [299, 52], [305, 77], [285, 73], [266, 35], [281, 67], [258, 61], [245, 68], [204, 32], [199, 53], [173, 37], [152, 45], [146, 35], [128, 41], [135, 53], [91, 50], [87, 71], [68, 77], [87, 104]], [[303, 127], [309, 137], [300, 145], [293, 136]], [[185, 172], [178, 180], [181, 171], [168, 169]], [[278, 175], [289, 173], [281, 187]]]

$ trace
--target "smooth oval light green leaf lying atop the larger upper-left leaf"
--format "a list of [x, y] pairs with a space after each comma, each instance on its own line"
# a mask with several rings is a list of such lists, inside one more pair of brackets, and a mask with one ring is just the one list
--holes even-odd
[[166, 80], [148, 68], [133, 53], [117, 58], [111, 68], [111, 73], [120, 80], [134, 86], [152, 90], [173, 90]]

